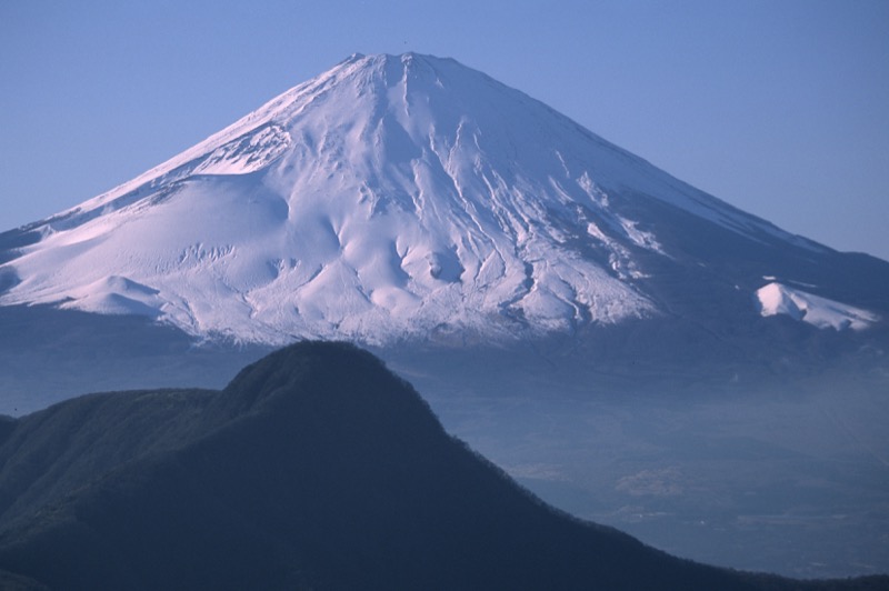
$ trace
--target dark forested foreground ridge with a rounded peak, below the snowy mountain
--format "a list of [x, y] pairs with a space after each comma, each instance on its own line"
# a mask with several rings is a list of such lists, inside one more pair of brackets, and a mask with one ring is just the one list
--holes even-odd
[[303, 342], [222, 391], [0, 422], [3, 589], [880, 589], [669, 557], [558, 513], [370, 353]]

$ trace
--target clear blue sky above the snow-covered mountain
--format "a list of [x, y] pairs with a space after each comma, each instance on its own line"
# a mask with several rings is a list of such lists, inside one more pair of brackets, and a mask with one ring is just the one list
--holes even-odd
[[889, 260], [889, 1], [0, 1], [0, 230], [354, 52], [452, 57], [746, 211]]

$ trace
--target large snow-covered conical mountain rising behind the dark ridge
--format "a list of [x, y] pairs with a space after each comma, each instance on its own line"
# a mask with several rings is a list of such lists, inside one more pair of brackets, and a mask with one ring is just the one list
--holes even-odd
[[0, 234], [0, 261], [2, 305], [260, 343], [501, 340], [662, 315], [863, 329], [889, 309], [885, 262], [791, 236], [413, 53], [352, 56], [132, 181]]

